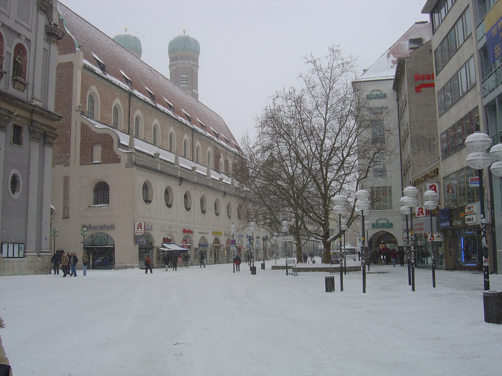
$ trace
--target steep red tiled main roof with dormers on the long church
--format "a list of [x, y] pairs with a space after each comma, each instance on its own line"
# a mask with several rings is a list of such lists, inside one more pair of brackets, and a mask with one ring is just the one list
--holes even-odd
[[[194, 119], [200, 119], [206, 126], [213, 127], [220, 135], [231, 140], [231, 146], [238, 149], [238, 144], [233, 134], [221, 116], [193, 98], [183, 89], [180, 89], [167, 77], [124, 49], [64, 4], [58, 2], [58, 10], [66, 21], [67, 31], [80, 45], [80, 50], [84, 54], [84, 60], [87, 60], [91, 65], [97, 66], [93, 54], [96, 55], [106, 65], [106, 73], [104, 75], [111, 80], [119, 81], [122, 85], [127, 86], [121, 73], [123, 71], [133, 81], [133, 90], [143, 95], [147, 101], [155, 103], [150, 99], [151, 96], [146, 89], [148, 87], [155, 94], [157, 105], [169, 110], [168, 104], [164, 103], [164, 98], [167, 99], [174, 106], [176, 115], [186, 119], [183, 111], [188, 112], [192, 117], [193, 126], [202, 129], [199, 123], [194, 121]], [[67, 38], [71, 37], [65, 36], [64, 39]], [[64, 42], [64, 39], [62, 42]], [[74, 45], [73, 41], [71, 45]], [[64, 49], [67, 50], [67, 46]], [[212, 136], [210, 133], [208, 135]], [[223, 140], [220, 141], [224, 144]]]

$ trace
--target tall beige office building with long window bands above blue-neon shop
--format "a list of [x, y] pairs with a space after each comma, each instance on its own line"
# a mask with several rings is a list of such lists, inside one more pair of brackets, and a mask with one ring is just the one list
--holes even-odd
[[[495, 108], [488, 106], [486, 114], [483, 109], [483, 103], [495, 104], [496, 94], [493, 89], [491, 95], [481, 100], [480, 83], [485, 79], [484, 75], [488, 80], [489, 73], [485, 70], [480, 76], [484, 50], [480, 47], [481, 53], [478, 54], [477, 47], [477, 40], [481, 44], [484, 41], [483, 17], [491, 3], [484, 0], [429, 0], [422, 10], [422, 13], [430, 15], [433, 29], [431, 50], [434, 53], [442, 179], [437, 222], [443, 234], [446, 269], [482, 268], [480, 195], [475, 178], [477, 171], [465, 162], [471, 150], [464, 146], [464, 141], [475, 131], [488, 131], [486, 118], [488, 112]], [[490, 178], [488, 170], [484, 172], [486, 184]], [[490, 272], [493, 272], [496, 248], [492, 241], [494, 234], [491, 224], [492, 218], [497, 215], [490, 205], [489, 189], [484, 192], [488, 262]]]

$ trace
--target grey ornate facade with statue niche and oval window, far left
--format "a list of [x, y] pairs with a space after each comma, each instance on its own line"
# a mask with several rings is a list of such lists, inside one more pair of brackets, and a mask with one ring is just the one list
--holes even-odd
[[58, 24], [53, 0], [0, 2], [0, 275], [50, 269]]

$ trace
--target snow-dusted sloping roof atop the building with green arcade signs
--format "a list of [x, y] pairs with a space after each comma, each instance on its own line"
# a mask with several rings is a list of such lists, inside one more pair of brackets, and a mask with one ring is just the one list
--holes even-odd
[[427, 21], [416, 22], [378, 60], [364, 71], [357, 81], [393, 79], [399, 58], [410, 56], [410, 39], [423, 38], [422, 43], [432, 38], [432, 27]]

